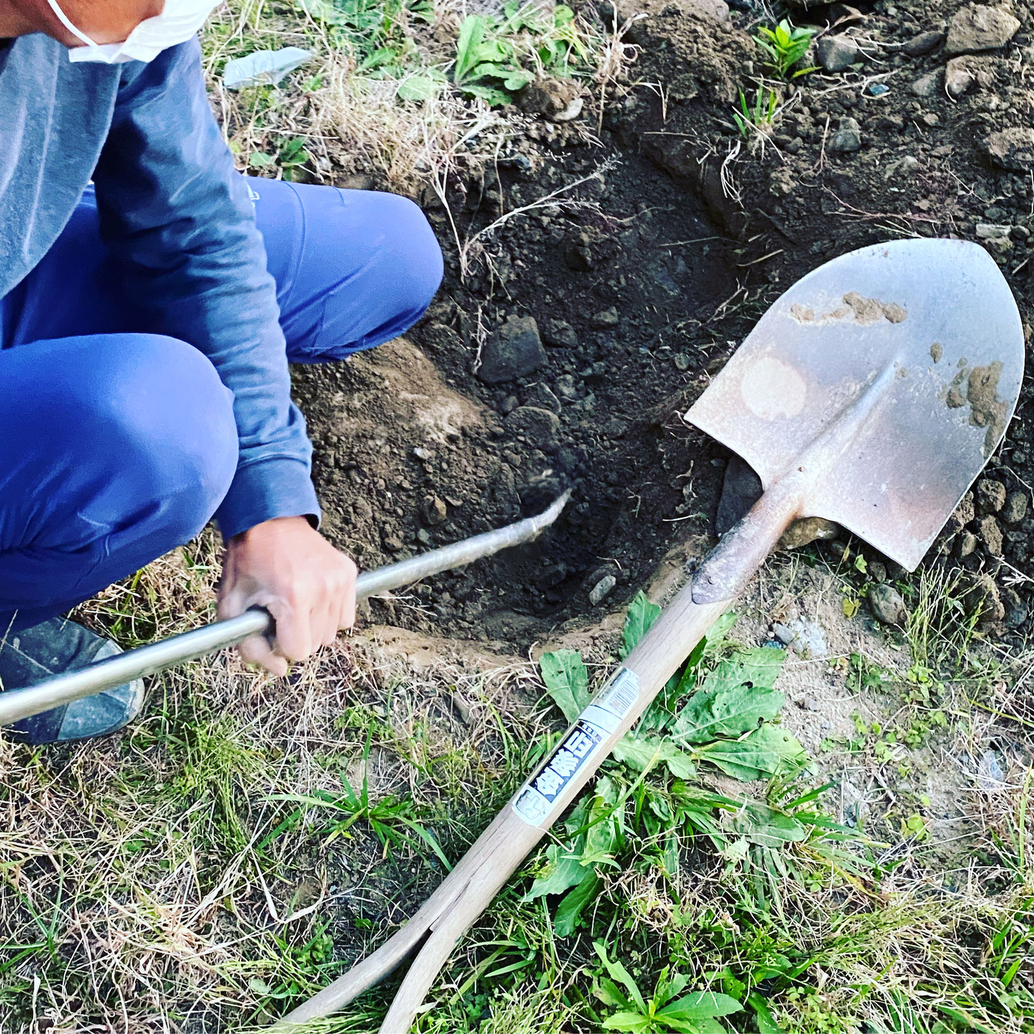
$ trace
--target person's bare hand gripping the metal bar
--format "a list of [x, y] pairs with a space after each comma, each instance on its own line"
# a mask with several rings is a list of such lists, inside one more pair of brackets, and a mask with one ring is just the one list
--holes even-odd
[[219, 617], [265, 607], [276, 620], [276, 643], [262, 636], [238, 649], [274, 675], [334, 641], [356, 619], [356, 565], [305, 517], [277, 517], [234, 536], [219, 582]]

